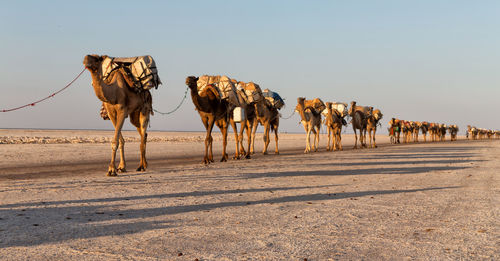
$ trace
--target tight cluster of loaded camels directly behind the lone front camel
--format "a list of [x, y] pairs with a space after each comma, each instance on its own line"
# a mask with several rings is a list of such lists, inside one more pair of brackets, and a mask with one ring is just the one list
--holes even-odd
[[[270, 132], [274, 131], [276, 148], [278, 149], [279, 110], [285, 105], [278, 93], [268, 89], [262, 91], [256, 83], [241, 82], [227, 76], [200, 77], [189, 76], [186, 85], [191, 90], [191, 98], [207, 131], [205, 138], [205, 156], [203, 162], [213, 162], [212, 129], [213, 125], [222, 132], [222, 161], [227, 161], [227, 129], [231, 125], [234, 130], [236, 150], [233, 159], [250, 158], [254, 153], [255, 132], [258, 124], [264, 126], [264, 150], [270, 143]], [[236, 123], [241, 128], [238, 133]], [[243, 132], [247, 132], [247, 150], [243, 146]]]

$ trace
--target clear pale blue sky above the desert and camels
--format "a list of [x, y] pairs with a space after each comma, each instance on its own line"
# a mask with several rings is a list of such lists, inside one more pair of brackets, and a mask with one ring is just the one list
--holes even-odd
[[[62, 88], [86, 54], [149, 54], [159, 111], [177, 106], [186, 76], [220, 74], [277, 91], [284, 116], [305, 96], [379, 108], [384, 128], [397, 117], [500, 129], [499, 30], [500, 1], [2, 1], [0, 110]], [[87, 71], [0, 113], [0, 128], [112, 129], [90, 82]], [[204, 128], [188, 96], [151, 129]]]

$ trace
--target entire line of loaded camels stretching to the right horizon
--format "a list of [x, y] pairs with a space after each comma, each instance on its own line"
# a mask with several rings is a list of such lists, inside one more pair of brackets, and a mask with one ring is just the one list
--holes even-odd
[[[107, 175], [116, 176], [117, 172], [126, 172], [125, 140], [121, 130], [127, 117], [130, 117], [130, 122], [137, 128], [141, 137], [140, 162], [137, 171], [145, 171], [147, 168], [147, 127], [149, 117], [153, 115], [153, 98], [150, 90], [162, 84], [155, 61], [151, 56], [115, 58], [106, 55], [87, 55], [83, 64], [90, 72], [94, 92], [102, 102], [101, 117], [110, 120], [115, 128]], [[222, 133], [221, 162], [228, 160], [226, 149], [229, 126], [232, 127], [235, 138], [233, 159], [248, 159], [254, 154], [255, 135], [259, 125], [264, 127], [262, 154], [268, 153], [271, 132], [274, 132], [274, 152], [279, 154], [278, 128], [281, 117], [279, 111], [285, 103], [278, 93], [269, 89], [262, 90], [259, 84], [254, 82], [242, 82], [227, 76], [188, 76], [185, 83], [191, 91], [193, 105], [206, 129], [203, 158], [205, 164], [214, 162], [212, 153], [214, 125]], [[352, 125], [354, 131], [354, 149], [377, 147], [375, 135], [383, 117], [379, 109], [360, 106], [356, 101], [352, 101], [349, 107], [343, 102], [325, 103], [320, 98], [307, 100], [305, 97], [299, 97], [294, 113], [300, 116], [300, 123], [306, 132], [304, 153], [319, 150], [322, 124], [327, 130], [327, 151], [343, 150], [342, 129], [347, 127], [348, 123]], [[388, 127], [390, 142], [393, 144], [419, 142], [420, 133], [424, 142], [427, 141], [427, 135], [430, 141], [444, 141], [447, 132], [450, 134], [450, 140], [455, 141], [458, 130], [457, 125], [405, 121], [396, 118], [389, 120]], [[245, 131], [246, 143], [244, 142]], [[312, 144], [311, 134], [313, 134]], [[500, 131], [480, 129], [469, 125], [466, 137], [472, 140], [499, 139]], [[117, 150], [120, 154], [118, 166], [115, 162]]]

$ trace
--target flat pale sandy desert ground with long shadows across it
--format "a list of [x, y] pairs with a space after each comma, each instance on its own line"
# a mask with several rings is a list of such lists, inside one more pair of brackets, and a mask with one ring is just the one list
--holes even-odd
[[2, 260], [500, 259], [498, 140], [304, 155], [282, 134], [280, 155], [205, 166], [203, 133], [151, 132], [139, 173], [126, 132], [109, 178], [111, 136], [0, 130]]

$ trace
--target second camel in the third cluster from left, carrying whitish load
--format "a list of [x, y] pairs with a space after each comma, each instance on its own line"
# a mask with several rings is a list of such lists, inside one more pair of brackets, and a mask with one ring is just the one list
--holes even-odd
[[345, 116], [343, 115], [344, 112], [337, 111], [332, 108], [331, 102], [327, 102], [323, 114], [325, 115], [325, 125], [328, 130], [328, 144], [326, 150], [342, 150], [342, 125], [345, 123], [343, 118], [343, 116]]

